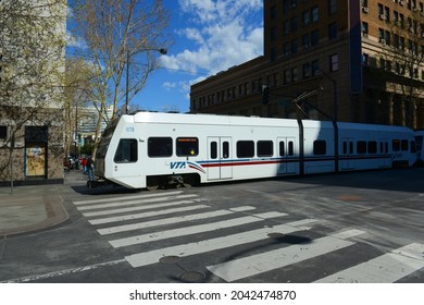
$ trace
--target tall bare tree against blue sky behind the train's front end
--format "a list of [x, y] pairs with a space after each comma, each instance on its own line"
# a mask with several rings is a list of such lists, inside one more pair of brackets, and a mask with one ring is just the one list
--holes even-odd
[[[100, 113], [98, 135], [101, 121], [113, 119], [159, 68], [158, 50], [170, 45], [170, 15], [162, 0], [77, 0], [74, 14], [72, 32], [87, 45], [78, 56], [89, 59], [95, 71], [91, 90]], [[107, 118], [109, 106], [112, 118]]]

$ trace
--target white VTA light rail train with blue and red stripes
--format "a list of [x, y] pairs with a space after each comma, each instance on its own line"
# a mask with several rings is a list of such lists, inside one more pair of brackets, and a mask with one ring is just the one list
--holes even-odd
[[104, 131], [96, 175], [129, 188], [411, 166], [409, 129], [138, 112]]

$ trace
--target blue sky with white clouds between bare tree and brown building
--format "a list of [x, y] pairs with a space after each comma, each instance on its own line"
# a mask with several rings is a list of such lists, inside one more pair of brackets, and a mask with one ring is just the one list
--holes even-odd
[[189, 111], [190, 85], [263, 54], [263, 0], [164, 0], [174, 44], [132, 100], [138, 109]]

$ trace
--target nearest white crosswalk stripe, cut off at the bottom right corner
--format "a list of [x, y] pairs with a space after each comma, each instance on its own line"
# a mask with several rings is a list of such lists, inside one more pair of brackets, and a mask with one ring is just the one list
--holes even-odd
[[392, 283], [421, 268], [424, 268], [424, 245], [414, 243], [315, 282]]

